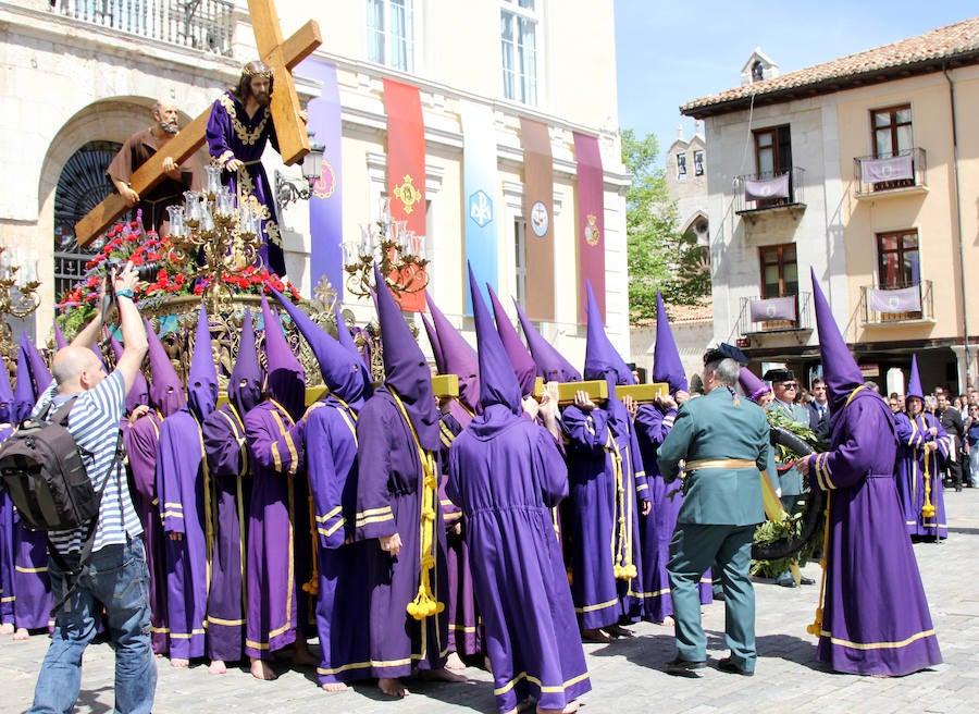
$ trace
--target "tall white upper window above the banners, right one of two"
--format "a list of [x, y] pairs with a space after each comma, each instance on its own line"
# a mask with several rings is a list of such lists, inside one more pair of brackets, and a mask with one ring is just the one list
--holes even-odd
[[[532, 8], [521, 7], [521, 2], [529, 2]], [[544, 56], [542, 48], [543, 13], [541, 5], [544, 0], [500, 0], [500, 91], [506, 99], [517, 101], [529, 107], [536, 107], [541, 97], [541, 60]], [[524, 21], [533, 28], [533, 48], [528, 54], [525, 47], [518, 37], [520, 21]], [[504, 38], [504, 25], [509, 25], [512, 40]], [[510, 57], [510, 70], [507, 69], [507, 58]]]

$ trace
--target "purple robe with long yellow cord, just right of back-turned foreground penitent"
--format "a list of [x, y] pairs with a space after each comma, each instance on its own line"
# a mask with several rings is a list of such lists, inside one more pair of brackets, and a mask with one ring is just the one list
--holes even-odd
[[[648, 500], [648, 485], [621, 402], [591, 411], [572, 404], [563, 424], [571, 493], [561, 524], [571, 540], [574, 612], [583, 630], [609, 627], [642, 608], [639, 500]], [[616, 567], [629, 566], [635, 574], [617, 578]]]

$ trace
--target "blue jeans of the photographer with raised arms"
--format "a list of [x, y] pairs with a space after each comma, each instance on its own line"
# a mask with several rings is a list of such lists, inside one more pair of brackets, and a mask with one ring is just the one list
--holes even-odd
[[[50, 558], [48, 573], [58, 602], [66, 588], [64, 574]], [[92, 553], [88, 574], [58, 612], [28, 714], [62, 714], [74, 707], [82, 687], [82, 655], [96, 636], [101, 606], [115, 648], [114, 711], [149, 714], [157, 663], [150, 647], [149, 570], [138, 538]]]

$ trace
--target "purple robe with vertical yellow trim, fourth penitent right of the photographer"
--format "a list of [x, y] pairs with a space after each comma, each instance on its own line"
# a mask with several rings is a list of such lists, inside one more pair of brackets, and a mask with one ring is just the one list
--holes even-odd
[[302, 422], [274, 399], [245, 415], [251, 463], [245, 654], [265, 660], [305, 633], [313, 613], [302, 589], [311, 577], [309, 493]]

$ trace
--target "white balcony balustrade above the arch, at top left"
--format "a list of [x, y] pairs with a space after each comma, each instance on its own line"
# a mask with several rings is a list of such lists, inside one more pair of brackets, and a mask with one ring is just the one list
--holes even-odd
[[230, 56], [233, 0], [58, 0], [62, 15], [148, 37]]

